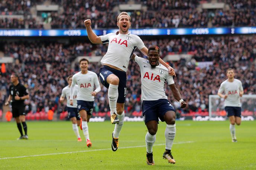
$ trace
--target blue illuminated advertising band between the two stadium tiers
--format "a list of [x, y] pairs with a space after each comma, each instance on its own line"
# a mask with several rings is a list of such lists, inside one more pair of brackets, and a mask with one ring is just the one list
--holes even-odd
[[[115, 33], [118, 29], [93, 30], [96, 35]], [[217, 28], [167, 28], [167, 29], [130, 29], [135, 35], [224, 35], [224, 34], [254, 34], [256, 27], [217, 27]], [[0, 36], [87, 36], [85, 29], [56, 30], [0, 30]]]

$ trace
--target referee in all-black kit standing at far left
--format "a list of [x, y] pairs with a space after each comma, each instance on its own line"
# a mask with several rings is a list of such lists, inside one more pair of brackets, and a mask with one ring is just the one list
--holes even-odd
[[[12, 85], [10, 85], [9, 88], [9, 97], [8, 97], [8, 102], [5, 103], [7, 106], [9, 102], [12, 103], [12, 115], [16, 120], [17, 127], [20, 131], [20, 137], [17, 138], [17, 140], [20, 139], [28, 139], [28, 134], [27, 134], [27, 124], [25, 120], [25, 104], [24, 100], [29, 99], [29, 94], [28, 94], [28, 89], [25, 88], [22, 84], [19, 83], [19, 76], [17, 74], [12, 74], [11, 75], [11, 82]], [[23, 135], [22, 132], [22, 126], [25, 132], [25, 135]]]

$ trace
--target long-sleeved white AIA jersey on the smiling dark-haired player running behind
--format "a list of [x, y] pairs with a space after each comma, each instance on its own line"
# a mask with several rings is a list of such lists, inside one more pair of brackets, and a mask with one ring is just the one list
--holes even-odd
[[[100, 83], [98, 76], [95, 72], [88, 71], [82, 74], [81, 71], [74, 74], [72, 77], [72, 84], [70, 89], [70, 98], [73, 97], [73, 87], [78, 85], [77, 100], [94, 101], [94, 96], [91, 94], [93, 91], [100, 91]], [[96, 86], [96, 89], [94, 89]]]

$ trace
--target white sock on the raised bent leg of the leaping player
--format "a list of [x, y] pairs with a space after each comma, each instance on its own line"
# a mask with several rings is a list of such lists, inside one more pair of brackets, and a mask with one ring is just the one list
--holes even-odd
[[116, 102], [118, 98], [118, 85], [109, 84], [108, 88], [108, 101], [110, 107], [110, 114], [116, 113]]

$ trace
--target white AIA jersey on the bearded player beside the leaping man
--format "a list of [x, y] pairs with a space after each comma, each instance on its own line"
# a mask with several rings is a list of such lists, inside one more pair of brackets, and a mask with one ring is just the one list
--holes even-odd
[[174, 84], [173, 78], [168, 73], [168, 69], [159, 63], [155, 68], [151, 68], [147, 59], [135, 56], [135, 62], [140, 66], [141, 72], [141, 99], [158, 100], [167, 99], [164, 91], [164, 84]]

